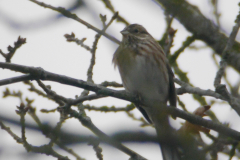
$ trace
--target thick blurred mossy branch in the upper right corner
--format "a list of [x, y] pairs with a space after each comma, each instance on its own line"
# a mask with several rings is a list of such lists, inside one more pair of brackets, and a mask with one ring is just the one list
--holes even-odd
[[[222, 56], [228, 37], [219, 31], [211, 20], [207, 19], [200, 10], [185, 0], [155, 0], [166, 12], [176, 18], [196, 39], [207, 43], [218, 55]], [[234, 41], [227, 63], [240, 72], [240, 43]]]

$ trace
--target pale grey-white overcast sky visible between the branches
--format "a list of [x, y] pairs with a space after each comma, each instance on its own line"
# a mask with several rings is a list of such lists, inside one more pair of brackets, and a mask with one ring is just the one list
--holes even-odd
[[[99, 18], [99, 14], [106, 15], [107, 22], [113, 15], [113, 13], [105, 7], [103, 1], [100, 0], [42, 0], [41, 2], [55, 7], [63, 7], [99, 29], [102, 29], [102, 22]], [[212, 20], [216, 25], [219, 25], [221, 32], [227, 36], [230, 34], [234, 26], [234, 20], [239, 12], [238, 0], [217, 0], [217, 6], [214, 6], [211, 0], [188, 0], [188, 2], [197, 6], [204, 16]], [[118, 11], [119, 15], [125, 18], [128, 23], [141, 24], [156, 40], [162, 38], [167, 23], [163, 8], [155, 1], [112, 0], [111, 3], [115, 11]], [[216, 10], [215, 7], [217, 7], [217, 11], [220, 14], [219, 19], [217, 19], [214, 14]], [[121, 40], [120, 31], [125, 26], [126, 25], [122, 22], [114, 21], [106, 32]], [[170, 52], [174, 53], [182, 46], [186, 38], [192, 34], [176, 19], [173, 19], [171, 27], [177, 30]], [[88, 29], [81, 23], [27, 0], [0, 1], [0, 49], [4, 53], [7, 53], [7, 47], [9, 45], [13, 46], [18, 36], [27, 39], [27, 43], [15, 53], [11, 60], [12, 63], [42, 67], [53, 73], [86, 80], [91, 53], [75, 43], [66, 41], [64, 35], [71, 34], [72, 32], [75, 33], [76, 37], [79, 39], [87, 38], [84, 44], [92, 46], [96, 32]], [[239, 41], [239, 39], [240, 36], [238, 35], [236, 40]], [[112, 65], [112, 56], [117, 47], [118, 45], [116, 43], [104, 36], [101, 37], [96, 51], [96, 65], [93, 69], [93, 80], [96, 84], [100, 84], [104, 81], [116, 81], [121, 83], [119, 73]], [[221, 58], [204, 42], [196, 40], [180, 54], [177, 62], [179, 68], [187, 73], [191, 84], [195, 87], [215, 90], [213, 82], [218, 70], [216, 62], [219, 62], [220, 59]], [[4, 62], [5, 59], [0, 56], [0, 61]], [[0, 69], [0, 79], [17, 75], [21, 74], [7, 69]], [[176, 75], [176, 77], [178, 76]], [[226, 70], [226, 80], [224, 80], [223, 83], [228, 84], [229, 82], [232, 86], [239, 86], [239, 73], [231, 67], [228, 67]], [[32, 83], [38, 87], [34, 81]], [[76, 87], [54, 82], [44, 81], [44, 83], [51, 85], [52, 90], [68, 98], [74, 98], [75, 95], [79, 95], [82, 91]], [[227, 87], [229, 88], [231, 86], [227, 85]], [[23, 99], [34, 99], [32, 105], [36, 107], [36, 114], [39, 116], [42, 123], [52, 127], [56, 126], [59, 121], [59, 114], [57, 112], [48, 114], [40, 112], [41, 109], [55, 109], [58, 106], [56, 103], [29, 92], [29, 87], [23, 83], [1, 86], [0, 120], [2, 120], [5, 125], [9, 126], [15, 134], [21, 136], [21, 128], [16, 123], [19, 121], [20, 117], [15, 112], [16, 106], [20, 105], [20, 100], [16, 97], [2, 98], [6, 88], [11, 92], [21, 91]], [[40, 87], [38, 88], [40, 89]], [[193, 112], [197, 107], [201, 106], [191, 94], [184, 94], [179, 96], [179, 98], [190, 112]], [[238, 123], [239, 116], [231, 109], [228, 103], [216, 100], [212, 97], [205, 97], [205, 99], [207, 104], [212, 106], [211, 111], [216, 114], [216, 117], [221, 123], [229, 123], [231, 128], [240, 131]], [[125, 107], [130, 103], [108, 97], [94, 101], [86, 101], [84, 104], [90, 104], [96, 107]], [[152, 127], [140, 127], [141, 122], [133, 121], [125, 112], [104, 113], [86, 110], [86, 113], [93, 123], [108, 135], [123, 131], [143, 132], [155, 135], [155, 130]], [[134, 109], [131, 113], [137, 118], [142, 116], [137, 109]], [[173, 122], [173, 125], [179, 128], [182, 122], [184, 122], [184, 120], [177, 119], [177, 121]], [[26, 116], [26, 123], [36, 126], [36, 123], [28, 115]], [[75, 135], [93, 135], [91, 131], [81, 126], [76, 119], [67, 120], [63, 124], [61, 130]], [[214, 131], [210, 133], [213, 135], [218, 134]], [[201, 135], [206, 143], [211, 143], [209, 138], [204, 134]], [[34, 127], [32, 129], [27, 129], [26, 136], [28, 142], [32, 145], [39, 146], [49, 142], [49, 139], [42, 135], [41, 132], [34, 129]], [[159, 160], [161, 157], [159, 146], [154, 143], [124, 143], [124, 145], [150, 160]], [[103, 148], [104, 160], [123, 160], [129, 158], [121, 151], [108, 145], [101, 144], [100, 146]], [[72, 148], [82, 158], [97, 160], [92, 146], [89, 146], [87, 142], [69, 144], [68, 147]], [[55, 149], [60, 154], [68, 156], [70, 159], [76, 159], [65, 151], [60, 150], [57, 146]], [[219, 159], [224, 160], [227, 158], [227, 155], [219, 153]], [[234, 158], [237, 159], [236, 157]], [[6, 131], [0, 130], [0, 159], [40, 160], [55, 158], [43, 154], [27, 153], [25, 148], [21, 144], [17, 144]]]

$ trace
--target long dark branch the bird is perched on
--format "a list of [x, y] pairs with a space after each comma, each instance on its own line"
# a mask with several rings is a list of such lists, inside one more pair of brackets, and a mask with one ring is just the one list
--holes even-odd
[[[58, 82], [58, 83], [66, 84], [66, 85], [84, 88], [86, 90], [96, 92], [97, 94], [112, 96], [115, 98], [131, 101], [134, 103], [140, 103], [137, 96], [134, 96], [125, 91], [115, 91], [115, 90], [108, 89], [108, 88], [105, 88], [105, 87], [102, 87], [99, 85], [89, 84], [83, 80], [78, 80], [78, 79], [70, 78], [67, 76], [54, 74], [54, 73], [51, 73], [48, 71], [44, 71], [41, 68], [27, 67], [27, 66], [23, 66], [23, 65], [17, 65], [17, 64], [12, 64], [12, 63], [10, 64], [10, 63], [4, 63], [4, 62], [0, 62], [0, 68], [7, 68], [7, 69], [14, 70], [14, 71], [19, 71], [22, 73], [30, 74], [33, 77], [33, 78], [30, 77], [32, 79], [50, 80], [50, 81], [54, 81], [54, 82]], [[240, 140], [239, 132], [237, 132], [233, 129], [227, 128], [221, 124], [216, 124], [210, 120], [205, 120], [201, 117], [181, 111], [174, 107], [167, 107], [166, 110], [168, 111], [168, 113], [170, 113], [176, 117], [186, 119], [190, 123], [204, 126], [206, 128], [215, 130], [217, 132], [221, 132], [228, 136], [234, 137], [237, 140]]]

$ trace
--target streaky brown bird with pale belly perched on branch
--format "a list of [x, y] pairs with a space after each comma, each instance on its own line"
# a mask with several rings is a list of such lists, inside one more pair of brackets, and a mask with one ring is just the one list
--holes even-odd
[[144, 105], [136, 105], [149, 123], [153, 123], [164, 160], [179, 160], [172, 143], [172, 128], [168, 115], [162, 110], [169, 102], [176, 107], [173, 72], [161, 46], [139, 24], [131, 24], [123, 31], [121, 44], [113, 56], [126, 91], [141, 97]]

